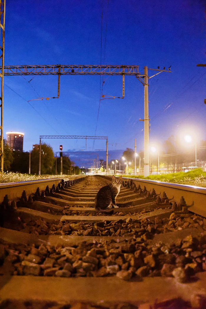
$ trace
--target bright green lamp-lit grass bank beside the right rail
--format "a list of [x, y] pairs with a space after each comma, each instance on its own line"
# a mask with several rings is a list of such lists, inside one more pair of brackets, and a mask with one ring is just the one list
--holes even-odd
[[159, 180], [170, 183], [189, 184], [194, 186], [206, 187], [206, 172], [204, 172], [201, 168], [197, 168], [186, 173], [179, 172], [172, 174], [150, 175], [147, 177], [144, 177], [143, 175], [123, 175], [123, 177]]

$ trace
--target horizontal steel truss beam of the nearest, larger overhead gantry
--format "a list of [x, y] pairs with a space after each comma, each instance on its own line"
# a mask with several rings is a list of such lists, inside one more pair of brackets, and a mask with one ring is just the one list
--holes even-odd
[[137, 75], [139, 66], [4, 66], [4, 75]]

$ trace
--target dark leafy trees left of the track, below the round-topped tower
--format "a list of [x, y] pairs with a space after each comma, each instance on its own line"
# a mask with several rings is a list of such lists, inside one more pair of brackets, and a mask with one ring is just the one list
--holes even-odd
[[[43, 143], [41, 145], [41, 174], [56, 173], [56, 160], [57, 160], [57, 174], [61, 172], [61, 158], [55, 157], [53, 148]], [[73, 166], [74, 162], [70, 161], [67, 156], [62, 157], [62, 173], [79, 175], [81, 169], [78, 166]], [[29, 172], [29, 152], [11, 151], [9, 146], [4, 140], [4, 171], [13, 171], [23, 174]], [[34, 148], [31, 151], [31, 174], [39, 173], [39, 149]]]

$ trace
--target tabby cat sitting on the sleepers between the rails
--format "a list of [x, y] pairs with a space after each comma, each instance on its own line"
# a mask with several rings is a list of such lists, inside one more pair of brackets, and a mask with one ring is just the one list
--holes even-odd
[[121, 183], [122, 176], [115, 177], [112, 175], [111, 184], [99, 189], [95, 197], [95, 209], [110, 213], [111, 211], [106, 209], [110, 209], [112, 206], [119, 208], [116, 205], [116, 197], [120, 192]]

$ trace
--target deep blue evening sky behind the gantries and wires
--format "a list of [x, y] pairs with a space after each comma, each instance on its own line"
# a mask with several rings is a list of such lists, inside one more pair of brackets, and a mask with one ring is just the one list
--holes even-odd
[[[204, 0], [7, 0], [5, 65], [100, 64], [102, 5], [102, 64], [139, 65], [141, 73], [144, 66], [171, 66], [172, 73], [149, 80], [150, 141], [163, 142], [187, 128], [205, 140], [206, 68], [196, 67], [205, 63]], [[23, 132], [24, 151], [39, 143], [40, 135], [95, 135], [99, 76], [61, 76], [60, 98], [33, 100], [32, 106], [28, 100], [57, 96], [57, 76], [5, 76], [4, 81], [4, 136]], [[105, 77], [103, 94], [121, 96], [121, 77]], [[134, 148], [136, 138], [138, 152], [144, 146], [140, 118], [144, 89], [126, 76], [125, 98], [101, 101], [96, 135], [120, 144], [116, 150]], [[54, 151], [60, 144], [63, 150], [85, 149], [84, 140], [44, 142]], [[105, 140], [87, 141], [88, 151], [105, 148]]]

